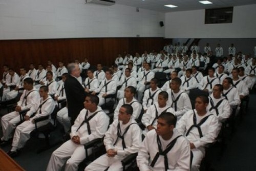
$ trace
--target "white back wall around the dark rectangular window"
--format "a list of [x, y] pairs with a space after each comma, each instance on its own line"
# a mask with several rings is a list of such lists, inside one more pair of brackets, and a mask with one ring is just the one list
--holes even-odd
[[233, 8], [230, 24], [204, 24], [205, 10], [165, 14], [165, 38], [256, 38], [256, 4]]

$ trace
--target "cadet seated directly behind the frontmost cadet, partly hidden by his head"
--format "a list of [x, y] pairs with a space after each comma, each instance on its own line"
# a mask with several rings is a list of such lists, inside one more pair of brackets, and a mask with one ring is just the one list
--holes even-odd
[[161, 113], [170, 112], [175, 115], [174, 109], [167, 105], [168, 93], [160, 92], [158, 94], [157, 103], [148, 107], [145, 114], [143, 114], [141, 122], [145, 126], [144, 132], [147, 133], [157, 127], [157, 119]]

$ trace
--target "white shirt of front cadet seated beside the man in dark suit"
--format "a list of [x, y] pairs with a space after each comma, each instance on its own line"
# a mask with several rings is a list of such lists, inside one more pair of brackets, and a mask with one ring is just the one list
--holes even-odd
[[[98, 112], [101, 111], [101, 112]], [[82, 109], [79, 115], [77, 116], [74, 125], [71, 127], [70, 137], [79, 136], [80, 143], [85, 144], [89, 141], [92, 141], [96, 138], [102, 138], [108, 130], [109, 126], [109, 117], [102, 111], [100, 106], [98, 106], [97, 110], [93, 113], [88, 111], [88, 117], [92, 116], [94, 113], [98, 112], [90, 121], [90, 130], [91, 134], [89, 135], [87, 129], [87, 123], [83, 123], [82, 126], [79, 128], [81, 123], [84, 121], [86, 117], [87, 110]], [[78, 130], [77, 130], [78, 129]]]

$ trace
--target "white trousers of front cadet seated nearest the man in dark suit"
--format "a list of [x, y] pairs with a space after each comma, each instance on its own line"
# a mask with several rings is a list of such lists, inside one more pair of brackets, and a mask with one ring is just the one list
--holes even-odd
[[[92, 150], [88, 150], [88, 155], [92, 154]], [[86, 150], [81, 144], [76, 144], [72, 140], [68, 140], [58, 147], [51, 156], [47, 166], [47, 171], [61, 170], [65, 164], [65, 170], [78, 170], [78, 165], [86, 158]]]

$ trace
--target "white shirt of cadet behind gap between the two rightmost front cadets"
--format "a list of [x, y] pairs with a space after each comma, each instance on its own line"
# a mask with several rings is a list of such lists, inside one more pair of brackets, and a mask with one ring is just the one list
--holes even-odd
[[169, 89], [169, 90], [167, 90], [167, 93], [168, 93], [167, 105], [172, 106], [172, 108], [174, 110], [175, 110], [175, 102], [174, 101], [177, 100], [177, 97], [180, 95], [178, 101], [176, 102], [177, 111], [175, 111], [178, 119], [180, 119], [180, 117], [182, 115], [184, 115], [184, 113], [186, 113], [187, 111], [192, 109], [189, 97], [188, 97], [187, 93], [185, 93], [184, 91], [180, 90], [178, 93], [174, 93], [171, 89]]

